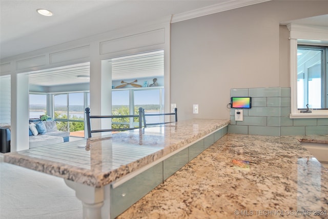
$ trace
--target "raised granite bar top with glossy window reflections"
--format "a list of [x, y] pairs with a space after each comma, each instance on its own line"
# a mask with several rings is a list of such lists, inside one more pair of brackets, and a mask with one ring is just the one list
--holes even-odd
[[[6, 153], [4, 161], [101, 187], [211, 132], [229, 120], [194, 119]], [[128, 146], [128, 147], [127, 147]]]

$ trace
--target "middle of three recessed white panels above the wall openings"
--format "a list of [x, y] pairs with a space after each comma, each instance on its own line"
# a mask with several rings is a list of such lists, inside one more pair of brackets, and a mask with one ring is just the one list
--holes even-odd
[[49, 54], [50, 64], [73, 61], [80, 58], [86, 58], [89, 56], [90, 56], [89, 45]]

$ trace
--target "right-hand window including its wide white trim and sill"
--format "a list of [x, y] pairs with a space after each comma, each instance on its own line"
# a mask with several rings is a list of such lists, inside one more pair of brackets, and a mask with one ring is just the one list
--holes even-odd
[[[290, 118], [328, 118], [328, 28], [289, 24]], [[309, 104], [309, 105], [308, 105]], [[311, 113], [304, 113], [306, 105]]]

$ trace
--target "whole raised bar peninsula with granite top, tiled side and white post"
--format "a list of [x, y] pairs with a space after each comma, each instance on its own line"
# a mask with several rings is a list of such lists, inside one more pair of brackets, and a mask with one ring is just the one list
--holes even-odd
[[64, 178], [84, 218], [114, 218], [227, 134], [229, 120], [189, 120], [7, 153], [4, 161]]

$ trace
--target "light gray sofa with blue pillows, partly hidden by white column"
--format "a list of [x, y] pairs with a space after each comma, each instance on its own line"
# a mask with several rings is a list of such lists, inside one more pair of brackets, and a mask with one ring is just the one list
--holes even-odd
[[[0, 127], [1, 153], [10, 152], [10, 126]], [[55, 121], [39, 121], [29, 124], [29, 148], [69, 142], [70, 133], [58, 131]]]

